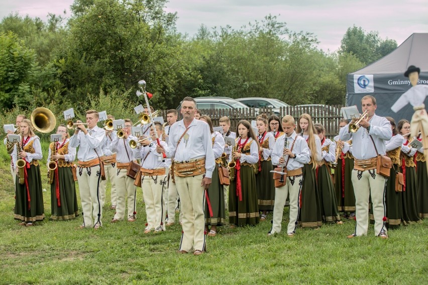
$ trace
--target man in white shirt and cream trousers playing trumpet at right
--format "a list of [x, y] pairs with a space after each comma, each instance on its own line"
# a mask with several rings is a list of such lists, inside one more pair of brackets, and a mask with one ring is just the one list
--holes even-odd
[[[363, 111], [367, 111], [367, 118], [361, 120], [361, 127], [356, 132], [349, 131], [349, 124], [341, 128], [341, 140], [352, 138], [352, 154], [355, 158], [352, 171], [354, 185], [357, 226], [355, 232], [348, 236], [362, 236], [367, 234], [369, 195], [373, 204], [375, 219], [375, 235], [383, 239], [388, 238], [385, 226], [385, 185], [386, 178], [376, 174], [377, 153], [386, 154], [386, 141], [392, 136], [391, 124], [385, 117], [375, 114], [376, 99], [373, 96], [364, 96], [361, 99]], [[355, 121], [352, 120], [351, 123]], [[372, 136], [372, 139], [370, 138]], [[375, 144], [375, 146], [373, 145]], [[376, 152], [376, 149], [377, 152]]]

